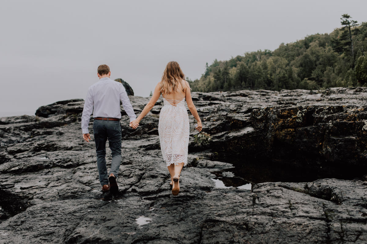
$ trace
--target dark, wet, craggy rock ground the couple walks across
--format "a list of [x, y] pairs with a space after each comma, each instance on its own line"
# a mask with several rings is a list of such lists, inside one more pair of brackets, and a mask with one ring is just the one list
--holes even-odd
[[[111, 201], [93, 135], [81, 137], [82, 100], [0, 118], [0, 243], [367, 243], [366, 88], [192, 97], [213, 140], [190, 139], [178, 196], [160, 153], [161, 98], [137, 130], [121, 120]], [[130, 99], [136, 113], [149, 101]]]

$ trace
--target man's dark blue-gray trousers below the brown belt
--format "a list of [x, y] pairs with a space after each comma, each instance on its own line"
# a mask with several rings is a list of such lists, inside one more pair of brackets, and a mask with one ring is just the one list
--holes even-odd
[[[121, 164], [121, 124], [120, 121], [94, 120], [93, 134], [95, 151], [97, 153], [97, 167], [99, 182], [101, 185], [108, 184], [108, 176], [113, 173], [117, 178]], [[106, 166], [106, 141], [108, 139], [112, 152], [110, 173], [107, 174]]]

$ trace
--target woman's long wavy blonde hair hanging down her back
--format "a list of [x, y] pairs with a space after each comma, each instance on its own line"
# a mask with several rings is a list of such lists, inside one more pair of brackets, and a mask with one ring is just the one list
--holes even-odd
[[185, 74], [183, 74], [180, 65], [176, 61], [169, 62], [160, 82], [161, 93], [170, 94], [178, 91], [178, 83], [182, 86], [181, 80], [185, 80]]

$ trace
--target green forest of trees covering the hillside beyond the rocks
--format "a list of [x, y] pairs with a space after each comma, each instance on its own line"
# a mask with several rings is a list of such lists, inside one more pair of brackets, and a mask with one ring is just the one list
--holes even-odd
[[188, 82], [192, 91], [244, 89], [308, 89], [363, 86], [367, 82], [367, 22], [342, 15], [341, 28], [330, 34], [308, 35], [227, 61], [217, 59], [200, 79]]

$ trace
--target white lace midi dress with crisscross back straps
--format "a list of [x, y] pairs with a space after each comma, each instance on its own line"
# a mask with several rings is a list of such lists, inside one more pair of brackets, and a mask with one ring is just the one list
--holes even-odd
[[179, 100], [163, 98], [159, 115], [159, 140], [167, 166], [182, 163], [186, 166], [190, 123], [185, 107], [185, 97]]

